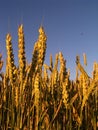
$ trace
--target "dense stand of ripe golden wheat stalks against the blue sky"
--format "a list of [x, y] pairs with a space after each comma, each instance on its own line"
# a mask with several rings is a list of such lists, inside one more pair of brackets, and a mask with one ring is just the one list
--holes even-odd
[[[56, 54], [54, 62], [50, 55], [50, 64], [44, 63], [46, 41], [41, 26], [32, 61], [27, 64], [24, 30], [20, 25], [17, 67], [12, 37], [7, 34], [4, 73], [0, 54], [0, 130], [97, 130], [98, 63], [94, 63], [89, 77], [76, 56], [76, 79], [70, 80], [62, 52]], [[83, 56], [87, 65], [86, 55]]]

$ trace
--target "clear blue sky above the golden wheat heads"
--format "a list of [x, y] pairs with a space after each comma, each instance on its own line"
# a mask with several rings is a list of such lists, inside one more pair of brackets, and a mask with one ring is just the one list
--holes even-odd
[[[6, 60], [6, 34], [12, 35], [15, 63], [18, 63], [18, 36], [20, 24], [24, 25], [27, 61], [32, 59], [38, 28], [42, 24], [47, 35], [45, 63], [49, 56], [62, 52], [75, 78], [76, 55], [83, 64], [87, 56], [87, 73], [91, 76], [94, 61], [98, 62], [98, 0], [0, 0], [0, 53]], [[3, 69], [4, 70], [4, 69]]]

